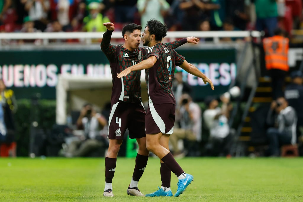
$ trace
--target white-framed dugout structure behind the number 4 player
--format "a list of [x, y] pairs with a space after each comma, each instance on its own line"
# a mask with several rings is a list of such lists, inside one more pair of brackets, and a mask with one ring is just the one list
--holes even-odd
[[[141, 76], [142, 89], [146, 88], [145, 74]], [[110, 102], [112, 78], [98, 78], [88, 75], [59, 75], [56, 86], [56, 123], [66, 124], [70, 111], [80, 111], [83, 104], [92, 103], [99, 112]], [[142, 100], [147, 100], [142, 90]]]

